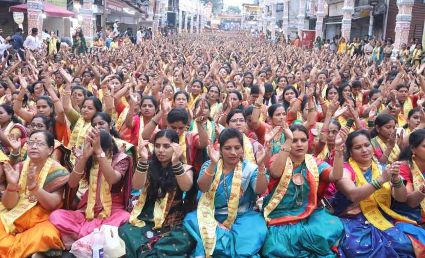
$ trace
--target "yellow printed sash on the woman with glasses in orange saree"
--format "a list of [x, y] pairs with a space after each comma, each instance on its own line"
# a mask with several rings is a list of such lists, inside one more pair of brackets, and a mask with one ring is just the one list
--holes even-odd
[[[50, 167], [52, 166], [53, 159], [48, 158], [44, 166], [41, 168], [40, 174], [38, 174], [38, 185], [40, 188], [44, 186], [47, 175], [49, 174]], [[27, 188], [27, 175], [30, 166], [30, 159], [27, 159], [24, 163], [24, 167], [22, 168], [22, 173], [20, 174], [19, 183], [18, 183], [18, 195], [19, 200], [16, 206], [7, 211], [3, 212], [0, 216], [2, 220], [3, 226], [6, 230], [6, 233], [13, 232], [15, 230], [15, 225], [13, 224], [20, 216], [22, 216], [25, 212], [30, 210], [37, 204], [37, 201], [30, 202], [27, 199], [27, 196], [30, 196], [31, 193]], [[3, 205], [0, 203], [0, 209], [3, 210]]]

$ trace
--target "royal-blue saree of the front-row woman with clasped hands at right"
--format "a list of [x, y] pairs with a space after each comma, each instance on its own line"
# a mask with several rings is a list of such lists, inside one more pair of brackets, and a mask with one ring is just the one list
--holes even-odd
[[[381, 167], [384, 169], [385, 165], [381, 165]], [[351, 167], [345, 164], [345, 168], [350, 169]], [[372, 169], [369, 168], [364, 174], [368, 182], [371, 182], [371, 175]], [[350, 216], [350, 214], [358, 212], [349, 218], [341, 218], [345, 229], [338, 247], [341, 257], [413, 258], [416, 257], [416, 250], [412, 245], [412, 240], [414, 242], [425, 240], [425, 230], [410, 223], [396, 222], [380, 208], [379, 211], [394, 227], [384, 231], [377, 229], [365, 218], [359, 205], [352, 203], [339, 191], [331, 200], [331, 204], [338, 216]]]

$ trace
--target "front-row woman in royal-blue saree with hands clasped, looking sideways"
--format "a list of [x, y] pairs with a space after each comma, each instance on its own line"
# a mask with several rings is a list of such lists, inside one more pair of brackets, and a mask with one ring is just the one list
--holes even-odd
[[399, 176], [400, 162], [380, 164], [364, 130], [351, 133], [346, 146], [348, 163], [331, 202], [345, 230], [339, 253], [342, 257], [423, 257], [418, 239], [424, 239], [425, 230], [392, 207], [394, 200], [408, 200]]

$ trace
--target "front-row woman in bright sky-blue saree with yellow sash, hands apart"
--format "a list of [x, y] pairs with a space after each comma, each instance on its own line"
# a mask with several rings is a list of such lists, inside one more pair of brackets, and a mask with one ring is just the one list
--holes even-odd
[[264, 157], [257, 164], [243, 157], [243, 136], [237, 128], [226, 128], [219, 136], [220, 153], [209, 144], [209, 157], [201, 168], [198, 187], [202, 195], [198, 209], [187, 214], [183, 225], [197, 241], [196, 257], [260, 257], [267, 235], [261, 213], [254, 211], [257, 195], [267, 189]]

